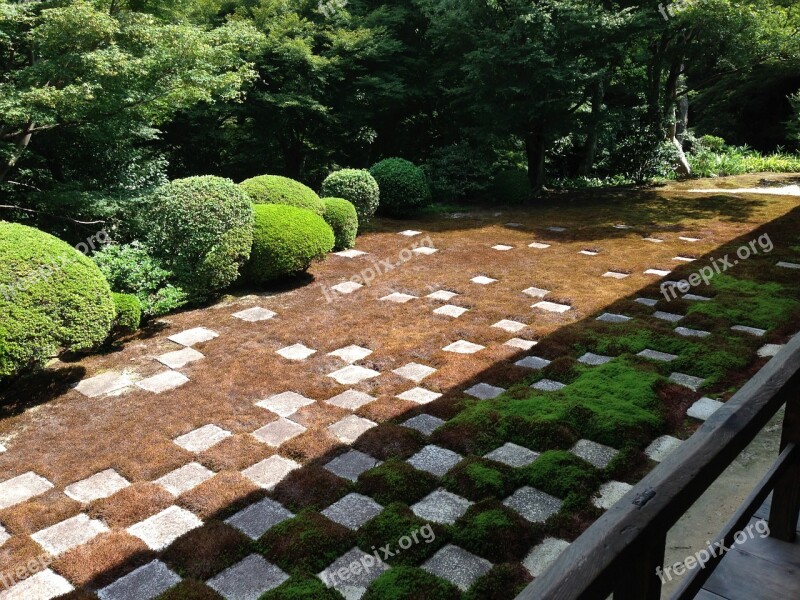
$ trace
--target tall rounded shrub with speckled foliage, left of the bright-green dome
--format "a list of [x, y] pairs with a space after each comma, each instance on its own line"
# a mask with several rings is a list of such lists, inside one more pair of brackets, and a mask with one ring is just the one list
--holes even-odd
[[253, 206], [230, 179], [176, 179], [144, 202], [144, 233], [153, 256], [200, 302], [232, 284], [250, 255]]

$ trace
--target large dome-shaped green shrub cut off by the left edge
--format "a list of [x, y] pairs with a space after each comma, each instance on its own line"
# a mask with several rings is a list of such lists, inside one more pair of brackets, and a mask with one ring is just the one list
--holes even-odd
[[0, 222], [0, 378], [96, 346], [114, 315], [91, 260], [43, 231]]

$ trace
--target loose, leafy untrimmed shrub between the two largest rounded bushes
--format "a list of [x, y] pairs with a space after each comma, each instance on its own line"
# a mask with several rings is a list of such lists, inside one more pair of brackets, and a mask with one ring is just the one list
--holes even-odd
[[139, 299], [146, 316], [164, 315], [186, 304], [186, 293], [169, 283], [172, 273], [163, 269], [139, 242], [103, 246], [92, 260], [112, 290]]

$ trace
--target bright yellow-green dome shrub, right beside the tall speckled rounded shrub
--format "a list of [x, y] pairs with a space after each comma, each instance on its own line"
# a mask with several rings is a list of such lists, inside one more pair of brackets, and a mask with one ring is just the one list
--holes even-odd
[[246, 275], [268, 283], [308, 269], [333, 249], [333, 230], [310, 210], [279, 204], [257, 204], [253, 250]]

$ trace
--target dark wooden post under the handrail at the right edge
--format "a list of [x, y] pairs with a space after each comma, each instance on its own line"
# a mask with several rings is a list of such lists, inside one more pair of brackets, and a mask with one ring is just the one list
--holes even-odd
[[[789, 444], [800, 447], [800, 389], [794, 389], [786, 402], [783, 418], [781, 451]], [[780, 476], [772, 492], [769, 512], [770, 536], [784, 542], [797, 537], [797, 519], [800, 517], [800, 452], [794, 452], [791, 463]]]

